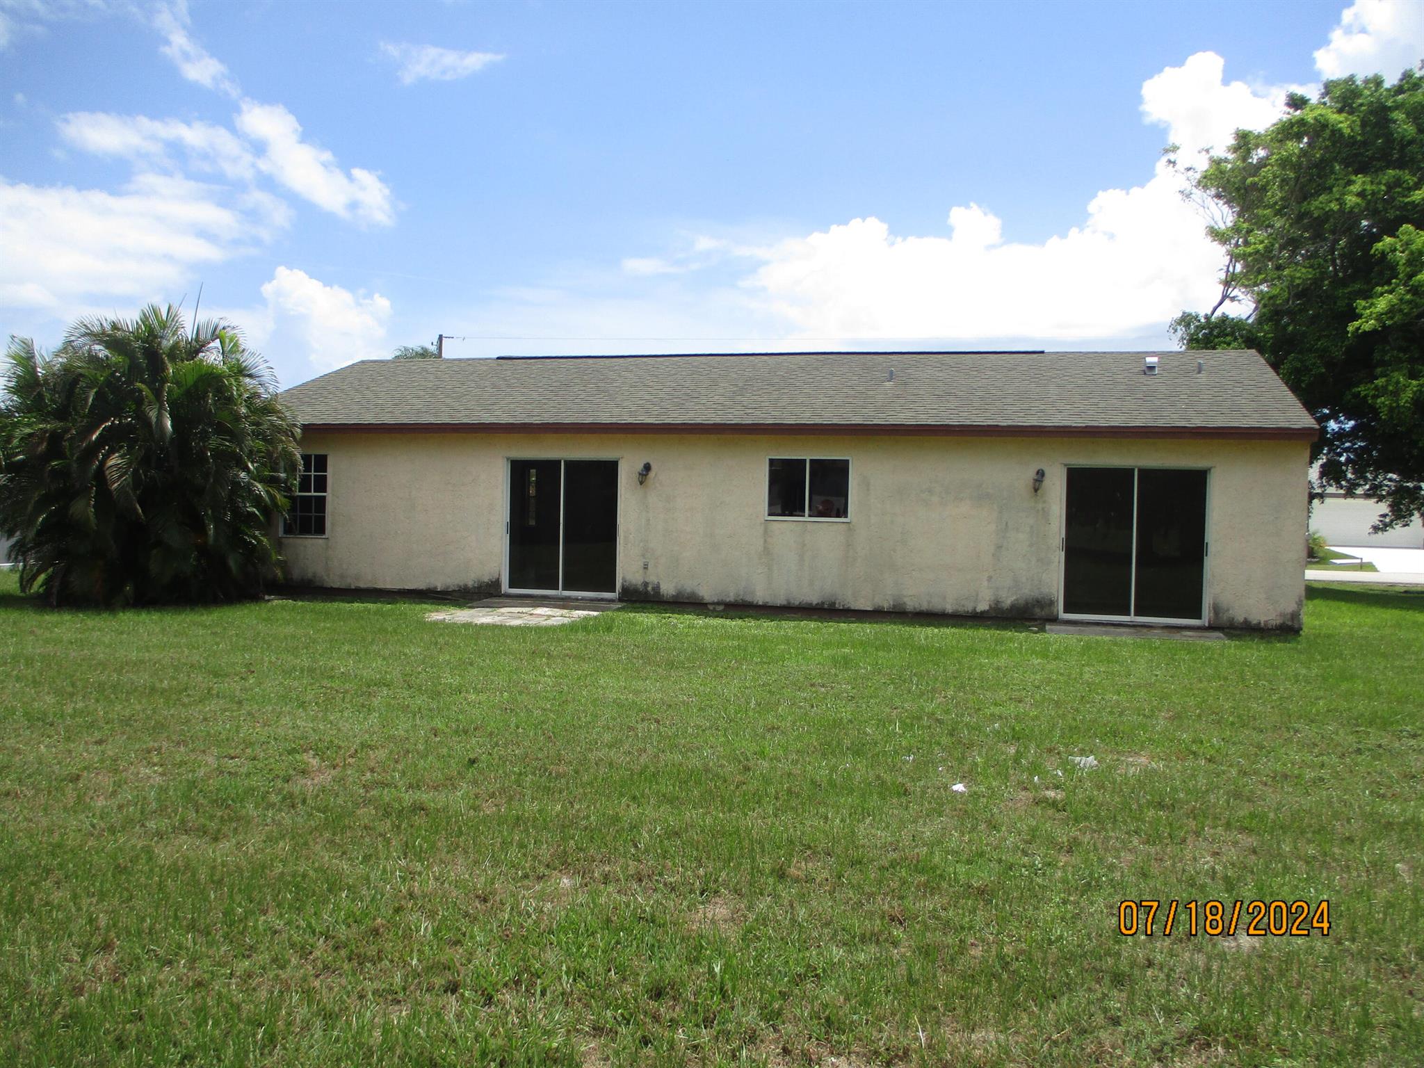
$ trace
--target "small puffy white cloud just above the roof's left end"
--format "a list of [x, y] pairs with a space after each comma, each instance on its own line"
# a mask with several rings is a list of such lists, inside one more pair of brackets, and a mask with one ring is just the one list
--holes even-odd
[[[360, 296], [325, 285], [305, 271], [279, 266], [263, 283], [262, 296], [269, 322], [258, 335], [266, 337], [273, 362], [299, 365], [305, 357], [316, 370], [328, 372], [390, 355], [390, 300], [380, 293]], [[281, 350], [289, 347], [299, 349], [298, 359]]]

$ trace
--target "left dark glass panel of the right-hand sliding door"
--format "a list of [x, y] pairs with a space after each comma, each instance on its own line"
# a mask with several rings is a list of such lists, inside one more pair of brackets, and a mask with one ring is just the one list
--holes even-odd
[[1131, 467], [1069, 467], [1064, 604], [1069, 615], [1132, 614]]

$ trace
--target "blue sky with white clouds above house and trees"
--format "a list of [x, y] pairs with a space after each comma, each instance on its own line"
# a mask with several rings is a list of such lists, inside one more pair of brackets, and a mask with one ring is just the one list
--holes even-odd
[[1149, 347], [1159, 164], [1424, 58], [1424, 1], [0, 0], [0, 332], [192, 300], [285, 384], [450, 355]]

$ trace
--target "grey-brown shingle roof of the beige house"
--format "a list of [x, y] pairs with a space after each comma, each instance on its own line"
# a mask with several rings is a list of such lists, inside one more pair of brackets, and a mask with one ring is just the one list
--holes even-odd
[[282, 397], [308, 429], [1317, 430], [1245, 350], [363, 360]]

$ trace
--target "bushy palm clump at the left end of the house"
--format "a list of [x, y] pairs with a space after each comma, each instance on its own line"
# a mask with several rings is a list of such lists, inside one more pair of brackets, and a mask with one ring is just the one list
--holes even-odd
[[172, 306], [81, 319], [53, 355], [11, 339], [0, 531], [26, 592], [128, 605], [252, 597], [278, 577], [273, 517], [298, 426], [232, 326]]

